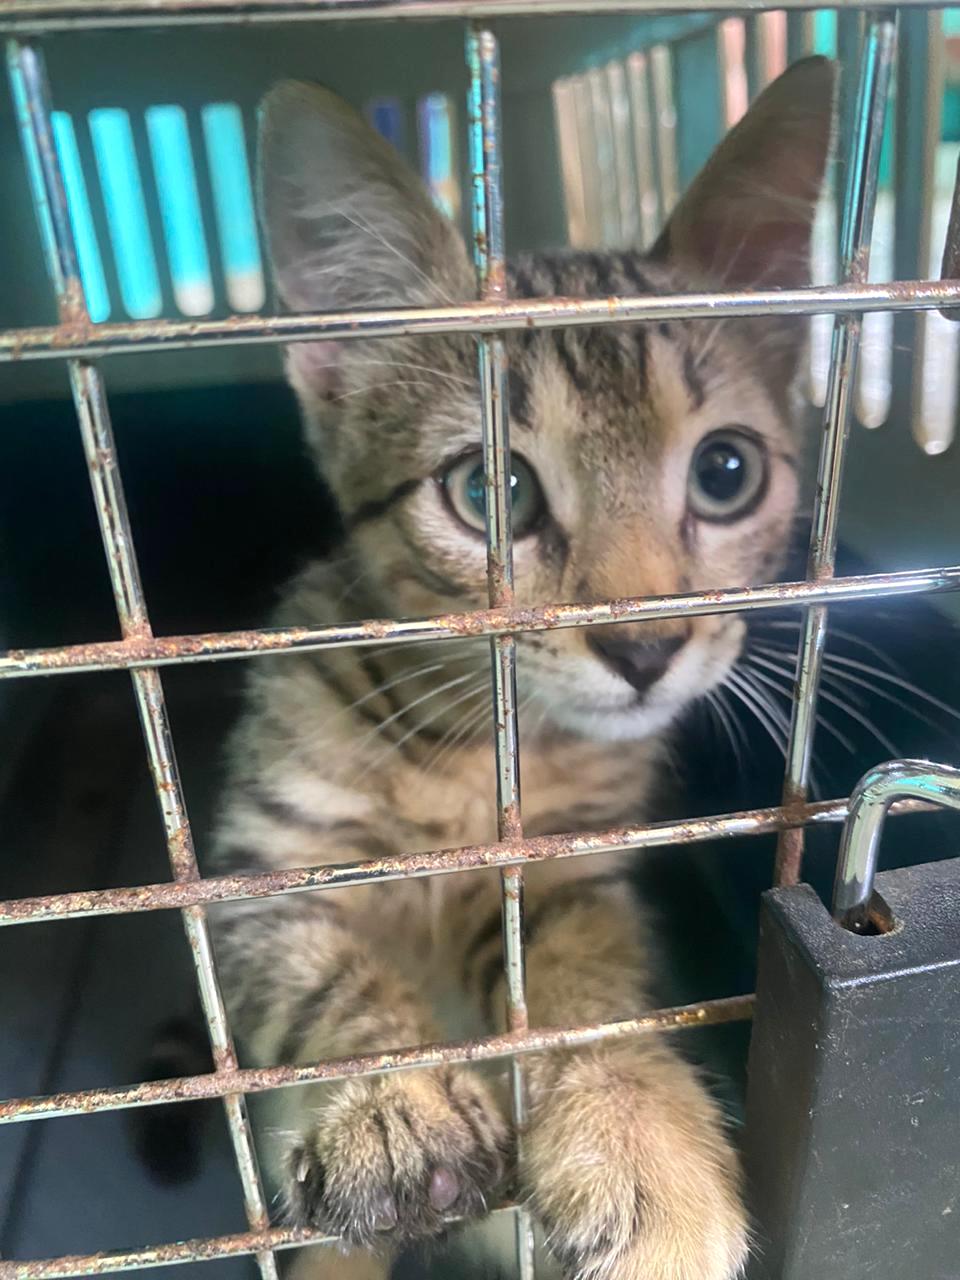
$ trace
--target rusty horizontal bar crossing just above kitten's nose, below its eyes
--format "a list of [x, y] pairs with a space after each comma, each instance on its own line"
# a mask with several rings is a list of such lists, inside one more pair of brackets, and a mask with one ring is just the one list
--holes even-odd
[[924, 595], [960, 589], [960, 564], [861, 573], [822, 582], [772, 582], [765, 586], [692, 591], [685, 595], [627, 596], [600, 604], [541, 604], [512, 609], [476, 609], [433, 618], [378, 618], [326, 627], [275, 627], [210, 631], [186, 636], [143, 636], [61, 645], [56, 649], [9, 649], [0, 653], [0, 680], [65, 672], [166, 667], [223, 662], [257, 654], [307, 653], [347, 646], [410, 644], [416, 640], [467, 640], [524, 631], [553, 631], [612, 622], [740, 613], [803, 604], [844, 604], [883, 596]]

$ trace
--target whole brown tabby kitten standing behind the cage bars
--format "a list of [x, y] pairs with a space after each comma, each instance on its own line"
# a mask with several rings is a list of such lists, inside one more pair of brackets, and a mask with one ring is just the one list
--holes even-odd
[[[732, 131], [654, 251], [520, 257], [520, 297], [800, 284], [832, 132], [833, 68], [792, 67]], [[292, 310], [461, 302], [465, 246], [351, 108], [282, 84], [260, 137], [276, 287]], [[797, 500], [795, 319], [672, 320], [507, 338], [518, 603], [769, 580]], [[342, 554], [287, 589], [278, 625], [486, 600], [475, 340], [293, 346], [307, 440]], [[643, 820], [669, 727], [718, 686], [744, 623], [701, 617], [518, 640], [530, 835]], [[492, 841], [484, 641], [257, 659], [233, 737], [219, 868], [347, 863]], [[653, 946], [605, 855], [527, 869], [532, 1027], [650, 1005]], [[312, 1062], [503, 1025], [495, 872], [218, 909], [234, 1019], [256, 1064]], [[668, 1037], [527, 1060], [520, 1184], [580, 1280], [724, 1280], [748, 1252], [718, 1106]], [[384, 1277], [403, 1243], [480, 1213], [511, 1158], [499, 1076], [466, 1066], [280, 1091], [269, 1156], [291, 1217], [348, 1252], [297, 1275]], [[279, 1133], [279, 1137], [276, 1134]]]

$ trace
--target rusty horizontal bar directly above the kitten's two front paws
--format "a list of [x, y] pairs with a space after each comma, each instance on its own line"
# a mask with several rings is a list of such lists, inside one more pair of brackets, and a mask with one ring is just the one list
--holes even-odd
[[[653, 1032], [681, 1030], [717, 1023], [742, 1021], [753, 1012], [753, 996], [728, 996], [696, 1005], [654, 1009], [637, 1018], [585, 1027], [544, 1028], [504, 1032], [477, 1039], [417, 1044], [415, 1048], [358, 1053], [300, 1066], [224, 1068], [206, 1075], [184, 1075], [170, 1080], [147, 1080], [105, 1089], [78, 1089], [32, 1098], [0, 1102], [0, 1124], [24, 1120], [50, 1120], [56, 1116], [93, 1115], [100, 1111], [128, 1111], [132, 1107], [159, 1106], [164, 1102], [195, 1102], [232, 1093], [265, 1093], [317, 1080], [348, 1080], [357, 1075], [387, 1075], [413, 1068], [445, 1066], [458, 1062], [490, 1062], [515, 1053], [543, 1053], [557, 1048], [595, 1044], [603, 1039], [646, 1036]], [[3, 1275], [3, 1272], [0, 1272]]]

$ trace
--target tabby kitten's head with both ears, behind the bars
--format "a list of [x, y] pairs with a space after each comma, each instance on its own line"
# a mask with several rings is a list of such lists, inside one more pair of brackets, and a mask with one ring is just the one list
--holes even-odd
[[[512, 270], [512, 292], [803, 283], [831, 97], [822, 60], [773, 86], [694, 184], [654, 259], [530, 257]], [[778, 156], [791, 138], [785, 166]], [[328, 178], [323, 202], [294, 161], [305, 146]], [[471, 296], [456, 233], [329, 95], [275, 91], [261, 156], [276, 276], [294, 307]], [[769, 320], [509, 335], [517, 603], [708, 590], [776, 575], [797, 500], [788, 385], [801, 344], [795, 323]], [[474, 340], [324, 344], [291, 348], [289, 357], [311, 443], [379, 612], [485, 605]], [[521, 698], [536, 695], [553, 723], [577, 733], [643, 737], [723, 680], [742, 632], [739, 618], [714, 616], [525, 635]]]

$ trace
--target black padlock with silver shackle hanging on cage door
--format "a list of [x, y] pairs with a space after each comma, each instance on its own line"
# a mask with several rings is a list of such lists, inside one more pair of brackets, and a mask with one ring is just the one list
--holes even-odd
[[960, 859], [874, 886], [902, 797], [960, 808], [960, 772], [897, 760], [861, 780], [833, 915], [805, 884], [764, 895], [745, 1133], [758, 1280], [960, 1277]]

